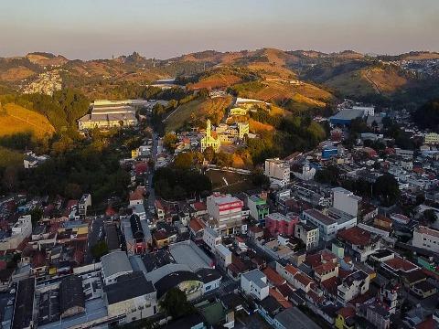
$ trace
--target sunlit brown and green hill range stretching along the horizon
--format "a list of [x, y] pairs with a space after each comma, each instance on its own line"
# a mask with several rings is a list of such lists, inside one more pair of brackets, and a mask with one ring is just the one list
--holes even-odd
[[[191, 89], [226, 89], [246, 82], [242, 76], [257, 76], [269, 88], [262, 90], [262, 98], [276, 94], [281, 97], [285, 84], [305, 81], [308, 85], [337, 93], [344, 97], [382, 98], [411, 95], [411, 90], [425, 90], [434, 86], [439, 77], [437, 68], [431, 73], [413, 73], [400, 65], [402, 61], [423, 63], [439, 59], [439, 53], [412, 51], [401, 55], [364, 55], [354, 50], [324, 53], [315, 50], [205, 50], [175, 58], [145, 58], [134, 52], [109, 59], [69, 59], [47, 52], [32, 52], [19, 58], [0, 58], [0, 90], [2, 87], [20, 90], [23, 85], [37, 80], [48, 69], [59, 69], [63, 88], [81, 90], [89, 98], [111, 97], [108, 90], [120, 90], [123, 84], [145, 85], [155, 80], [189, 77]], [[224, 71], [218, 71], [223, 68]], [[242, 69], [245, 69], [244, 72]], [[226, 73], [227, 71], [227, 73]], [[243, 73], [244, 72], [244, 73]], [[273, 86], [277, 80], [277, 86]], [[284, 91], [282, 91], [284, 90]], [[406, 91], [409, 90], [407, 93]], [[434, 90], [435, 92], [435, 90]], [[268, 94], [268, 96], [266, 96]]]

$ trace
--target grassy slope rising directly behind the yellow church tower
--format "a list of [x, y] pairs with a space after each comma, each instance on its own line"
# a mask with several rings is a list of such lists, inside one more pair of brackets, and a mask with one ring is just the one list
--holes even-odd
[[203, 127], [208, 118], [213, 124], [218, 124], [230, 102], [230, 97], [188, 101], [166, 118], [165, 130], [177, 131], [185, 125]]

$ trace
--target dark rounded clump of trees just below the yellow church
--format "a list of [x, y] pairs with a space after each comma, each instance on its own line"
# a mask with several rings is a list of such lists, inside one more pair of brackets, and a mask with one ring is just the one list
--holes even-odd
[[212, 183], [198, 170], [171, 165], [155, 171], [154, 187], [155, 193], [166, 200], [181, 200], [209, 194]]

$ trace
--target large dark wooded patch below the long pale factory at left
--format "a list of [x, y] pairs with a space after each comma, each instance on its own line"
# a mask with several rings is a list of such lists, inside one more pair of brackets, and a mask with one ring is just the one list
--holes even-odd
[[117, 154], [102, 141], [74, 141], [63, 137], [53, 143], [44, 164], [26, 171], [8, 166], [1, 171], [5, 192], [27, 190], [32, 195], [78, 198], [90, 192], [98, 204], [107, 196], [126, 196], [129, 175], [119, 165]]

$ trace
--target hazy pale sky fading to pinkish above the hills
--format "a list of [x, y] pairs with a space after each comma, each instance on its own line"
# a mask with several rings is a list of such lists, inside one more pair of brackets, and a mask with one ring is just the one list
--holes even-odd
[[439, 51], [439, 0], [0, 0], [0, 57]]

